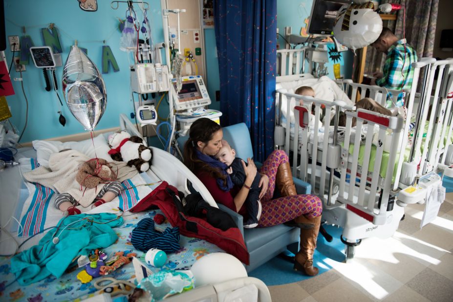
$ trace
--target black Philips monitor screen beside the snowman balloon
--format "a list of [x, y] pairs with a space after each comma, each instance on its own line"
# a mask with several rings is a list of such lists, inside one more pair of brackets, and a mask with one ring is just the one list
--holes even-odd
[[333, 35], [333, 23], [338, 10], [350, 0], [315, 0], [311, 8], [308, 33], [311, 35]]

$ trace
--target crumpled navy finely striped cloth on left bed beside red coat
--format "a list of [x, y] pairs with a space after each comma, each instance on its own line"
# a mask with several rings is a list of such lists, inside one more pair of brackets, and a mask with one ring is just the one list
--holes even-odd
[[146, 217], [137, 223], [132, 230], [130, 243], [139, 251], [148, 252], [151, 248], [157, 248], [166, 253], [174, 253], [179, 250], [179, 227], [166, 228], [164, 232], [154, 229], [154, 220]]

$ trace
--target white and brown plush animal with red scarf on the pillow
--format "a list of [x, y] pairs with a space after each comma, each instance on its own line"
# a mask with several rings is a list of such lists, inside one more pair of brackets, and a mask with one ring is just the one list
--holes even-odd
[[129, 167], [134, 166], [138, 172], [150, 169], [152, 152], [143, 144], [143, 139], [131, 136], [128, 131], [118, 131], [108, 136], [108, 151], [111, 158], [116, 161], [125, 161]]

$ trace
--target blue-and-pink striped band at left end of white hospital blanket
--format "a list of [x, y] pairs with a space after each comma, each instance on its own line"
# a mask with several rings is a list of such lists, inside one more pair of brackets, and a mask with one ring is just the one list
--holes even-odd
[[[31, 170], [39, 167], [36, 158], [30, 158]], [[23, 232], [19, 237], [29, 237], [38, 234], [44, 229], [47, 207], [54, 191], [40, 184], [34, 183], [35, 192], [33, 202], [30, 204], [27, 212], [22, 216], [21, 224]]]

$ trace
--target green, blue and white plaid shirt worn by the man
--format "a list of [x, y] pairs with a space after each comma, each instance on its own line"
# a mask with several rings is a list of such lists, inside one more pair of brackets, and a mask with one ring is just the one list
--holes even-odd
[[[417, 54], [415, 49], [409, 44], [406, 44], [405, 49], [405, 43], [406, 39], [401, 39], [388, 48], [387, 59], [383, 70], [384, 77], [376, 80], [378, 86], [391, 89], [404, 89], [406, 91], [410, 90], [414, 75], [412, 63], [417, 62]], [[403, 93], [398, 95], [396, 106], [404, 106], [403, 97]], [[391, 101], [388, 100], [386, 107], [389, 108], [392, 105]]]

